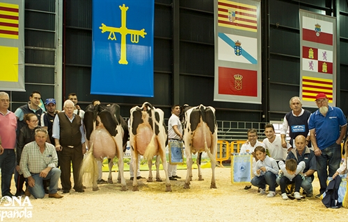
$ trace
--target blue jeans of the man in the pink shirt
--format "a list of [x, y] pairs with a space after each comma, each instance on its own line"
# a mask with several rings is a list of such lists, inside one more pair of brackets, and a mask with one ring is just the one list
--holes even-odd
[[12, 174], [15, 171], [16, 155], [14, 149], [6, 148], [0, 155], [1, 167], [1, 194], [6, 196], [10, 193]]

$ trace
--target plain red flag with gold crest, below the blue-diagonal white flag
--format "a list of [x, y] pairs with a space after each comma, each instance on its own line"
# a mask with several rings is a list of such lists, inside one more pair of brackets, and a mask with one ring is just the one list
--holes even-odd
[[258, 71], [219, 67], [219, 94], [258, 96]]

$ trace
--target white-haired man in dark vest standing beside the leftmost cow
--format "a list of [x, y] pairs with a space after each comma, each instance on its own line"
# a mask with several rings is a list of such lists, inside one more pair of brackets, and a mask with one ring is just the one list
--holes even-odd
[[70, 164], [72, 164], [74, 176], [73, 188], [77, 192], [84, 192], [82, 181], [79, 180], [81, 162], [84, 159], [84, 153], [86, 153], [84, 126], [81, 117], [74, 114], [72, 101], [65, 101], [64, 111], [56, 114], [52, 133], [61, 165], [63, 194], [69, 193], [71, 189]]

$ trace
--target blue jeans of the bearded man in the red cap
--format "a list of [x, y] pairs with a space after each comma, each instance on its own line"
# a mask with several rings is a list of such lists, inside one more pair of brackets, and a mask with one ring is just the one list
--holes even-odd
[[[326, 190], [326, 180], [328, 176], [333, 176], [341, 163], [341, 145], [332, 144], [322, 149], [322, 155], [315, 156], [317, 159], [317, 174], [320, 183], [320, 194]], [[329, 166], [329, 174], [328, 174]]]

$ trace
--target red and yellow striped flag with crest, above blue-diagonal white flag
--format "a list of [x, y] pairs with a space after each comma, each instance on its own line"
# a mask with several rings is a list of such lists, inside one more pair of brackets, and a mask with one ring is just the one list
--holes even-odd
[[257, 32], [257, 6], [251, 6], [235, 1], [219, 0], [218, 24], [219, 26], [227, 28]]

